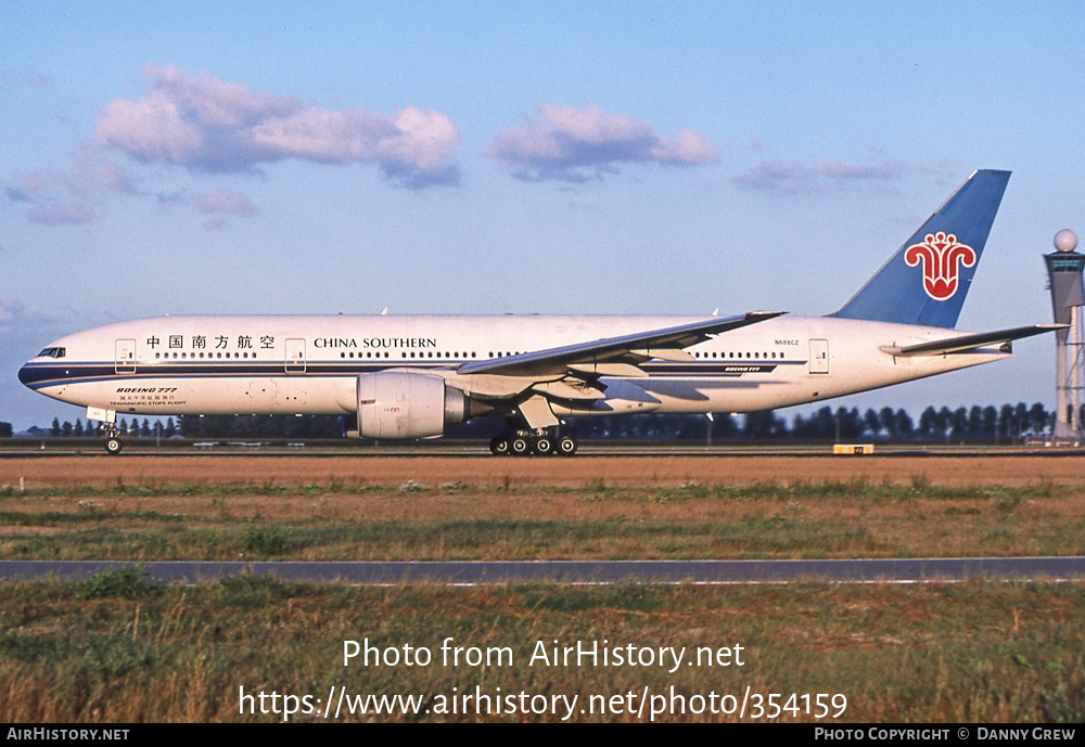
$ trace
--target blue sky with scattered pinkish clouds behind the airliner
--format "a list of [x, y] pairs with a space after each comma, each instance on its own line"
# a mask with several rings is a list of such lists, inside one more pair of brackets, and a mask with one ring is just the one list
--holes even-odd
[[[1049, 322], [1041, 255], [1085, 231], [1080, 2], [0, 15], [0, 421], [16, 429], [85, 416], [16, 373], [115, 321], [824, 314], [972, 170], [1008, 169], [958, 323], [982, 331]], [[1054, 405], [1054, 340], [1014, 351], [835, 403]]]

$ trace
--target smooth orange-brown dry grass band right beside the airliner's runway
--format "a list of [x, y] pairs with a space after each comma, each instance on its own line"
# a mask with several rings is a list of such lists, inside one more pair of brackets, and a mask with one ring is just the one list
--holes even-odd
[[244, 482], [279, 485], [345, 484], [675, 487], [692, 480], [726, 482], [807, 482], [865, 480], [908, 482], [923, 476], [935, 485], [1018, 487], [1032, 482], [1085, 482], [1081, 461], [1046, 456], [585, 456], [571, 460], [448, 456], [72, 456], [0, 460], [0, 486], [60, 488], [146, 482]]

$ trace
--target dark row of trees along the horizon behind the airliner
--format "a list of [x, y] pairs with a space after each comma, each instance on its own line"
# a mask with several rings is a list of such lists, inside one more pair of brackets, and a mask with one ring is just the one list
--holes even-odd
[[[916, 421], [906, 410], [884, 407], [881, 410], [826, 405], [814, 413], [795, 414], [790, 422], [774, 410], [735, 416], [727, 413], [704, 415], [631, 415], [573, 418], [564, 428], [582, 439], [642, 439], [674, 441], [799, 440], [799, 441], [924, 441], [1013, 443], [1023, 438], [1046, 436], [1054, 413], [1042, 402], [1024, 402], [970, 408], [928, 407]], [[1085, 407], [1082, 408], [1085, 420]], [[333, 415], [181, 415], [165, 421], [122, 417], [122, 436], [137, 439], [314, 439], [343, 438], [348, 417]], [[353, 423], [349, 424], [353, 426]], [[489, 438], [501, 432], [499, 421], [481, 418], [450, 426], [452, 438]], [[53, 418], [49, 428], [31, 429], [36, 436], [54, 438], [97, 438], [101, 424], [81, 420], [75, 423]], [[0, 438], [11, 437], [9, 423], [0, 423]]]

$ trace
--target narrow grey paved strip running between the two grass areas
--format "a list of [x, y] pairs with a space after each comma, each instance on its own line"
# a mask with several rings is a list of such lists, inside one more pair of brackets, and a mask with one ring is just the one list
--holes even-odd
[[957, 557], [854, 561], [550, 561], [434, 563], [243, 563], [3, 561], [0, 579], [85, 579], [136, 565], [155, 583], [214, 582], [251, 574], [283, 581], [347, 584], [433, 583], [931, 583], [1083, 581], [1085, 557]]

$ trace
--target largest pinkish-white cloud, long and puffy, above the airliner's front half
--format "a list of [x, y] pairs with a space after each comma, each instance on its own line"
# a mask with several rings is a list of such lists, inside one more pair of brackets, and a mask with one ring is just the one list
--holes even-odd
[[138, 160], [243, 172], [301, 158], [375, 164], [405, 186], [458, 180], [451, 159], [460, 133], [441, 112], [414, 106], [393, 115], [360, 107], [327, 110], [208, 73], [188, 76], [175, 65], [149, 63], [143, 75], [142, 96], [114, 99], [95, 121], [100, 145]]

